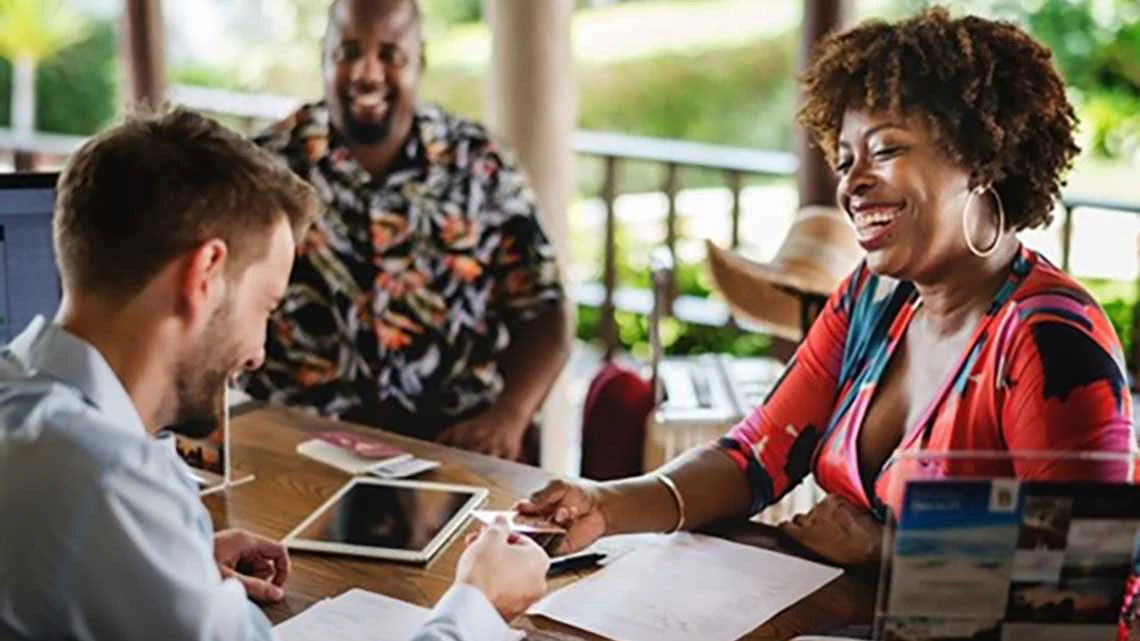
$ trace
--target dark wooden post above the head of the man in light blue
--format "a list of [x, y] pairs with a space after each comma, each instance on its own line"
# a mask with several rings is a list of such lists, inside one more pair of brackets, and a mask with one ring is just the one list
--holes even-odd
[[127, 0], [122, 48], [128, 102], [162, 106], [165, 102], [162, 0]]

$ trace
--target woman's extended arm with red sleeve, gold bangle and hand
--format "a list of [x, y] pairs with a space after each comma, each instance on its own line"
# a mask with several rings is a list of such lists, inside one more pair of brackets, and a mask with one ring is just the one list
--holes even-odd
[[718, 443], [698, 447], [649, 474], [609, 481], [554, 481], [521, 501], [523, 513], [567, 527], [569, 552], [600, 536], [668, 532], [681, 520], [670, 479], [684, 503], [685, 529], [758, 512], [811, 471], [812, 453], [839, 387], [861, 267], [832, 294], [807, 339], [764, 403]]

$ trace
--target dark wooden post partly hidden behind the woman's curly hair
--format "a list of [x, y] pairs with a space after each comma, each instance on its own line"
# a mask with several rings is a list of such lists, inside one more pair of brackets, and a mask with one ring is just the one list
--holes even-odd
[[[800, 35], [799, 68], [807, 68], [812, 49], [824, 35], [842, 29], [850, 15], [849, 0], [804, 0], [804, 26]], [[796, 129], [796, 156], [799, 170], [796, 187], [799, 206], [834, 205], [836, 181], [823, 153], [812, 145], [803, 128]]]

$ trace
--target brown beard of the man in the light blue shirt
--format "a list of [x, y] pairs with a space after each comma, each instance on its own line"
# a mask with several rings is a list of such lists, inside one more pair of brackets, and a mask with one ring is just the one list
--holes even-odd
[[174, 372], [176, 414], [166, 429], [187, 438], [206, 438], [221, 427], [226, 383], [236, 370], [229, 332], [231, 306], [227, 301], [206, 325], [195, 350]]

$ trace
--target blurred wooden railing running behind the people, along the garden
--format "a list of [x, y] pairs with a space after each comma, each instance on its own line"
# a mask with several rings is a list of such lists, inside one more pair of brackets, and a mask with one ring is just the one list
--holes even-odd
[[[243, 132], [251, 132], [288, 114], [296, 100], [279, 96], [249, 95], [174, 86], [170, 88], [172, 103], [202, 111], [231, 123]], [[36, 133], [21, 137], [10, 130], [0, 129], [0, 151], [13, 154], [35, 154], [50, 159], [62, 159], [78, 148], [84, 138]], [[749, 177], [791, 177], [796, 173], [796, 156], [788, 152], [766, 152], [740, 147], [705, 145], [645, 138], [597, 131], [577, 131], [572, 138], [573, 149], [581, 156], [601, 160], [601, 200], [604, 218], [602, 281], [577, 285], [572, 297], [578, 305], [596, 307], [601, 311], [600, 335], [608, 352], [618, 344], [616, 314], [618, 310], [649, 315], [653, 307], [653, 295], [649, 289], [621, 287], [617, 279], [618, 216], [617, 201], [622, 194], [619, 176], [622, 163], [654, 163], [663, 169], [660, 190], [668, 202], [665, 217], [665, 246], [670, 251], [678, 242], [677, 195], [682, 187], [682, 176], [686, 170], [711, 170], [719, 172], [731, 194], [728, 217], [731, 220], [731, 243], [740, 245], [741, 193]], [[1086, 209], [1121, 211], [1140, 214], [1140, 204], [1102, 202], [1089, 198], [1065, 197], [1061, 202], [1061, 267], [1069, 268], [1072, 257], [1073, 217]], [[1140, 291], [1140, 274], [1137, 275]], [[733, 319], [727, 308], [717, 300], [699, 297], [677, 297], [676, 286], [670, 283], [669, 305], [662, 310], [687, 323], [702, 325], [725, 325]], [[1133, 314], [1133, 336], [1140, 338], [1140, 299]], [[1140, 370], [1140, 340], [1133, 340], [1133, 367]], [[1133, 373], [1140, 380], [1140, 371]]]

